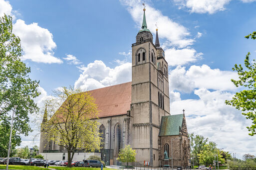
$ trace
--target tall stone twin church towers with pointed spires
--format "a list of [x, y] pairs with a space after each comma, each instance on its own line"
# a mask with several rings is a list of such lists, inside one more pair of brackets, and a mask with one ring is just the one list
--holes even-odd
[[145, 8], [142, 29], [132, 44], [132, 148], [141, 165], [159, 166], [158, 134], [162, 116], [170, 115], [168, 64], [160, 47], [147, 28]]

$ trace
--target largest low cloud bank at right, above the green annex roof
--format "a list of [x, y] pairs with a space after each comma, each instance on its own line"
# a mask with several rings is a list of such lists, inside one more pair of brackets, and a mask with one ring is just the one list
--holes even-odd
[[[179, 100], [171, 103], [171, 114], [180, 114], [185, 109], [189, 133], [194, 132], [215, 141], [219, 148], [237, 153], [256, 154], [256, 136], [250, 137], [246, 126], [252, 123], [240, 111], [225, 104], [233, 94], [223, 91], [209, 91], [200, 88], [194, 91], [200, 99]], [[246, 145], [245, 145], [246, 144]]]

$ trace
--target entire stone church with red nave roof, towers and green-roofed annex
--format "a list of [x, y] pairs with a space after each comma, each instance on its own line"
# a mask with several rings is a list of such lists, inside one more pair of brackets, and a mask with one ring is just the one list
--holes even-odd
[[[137, 153], [135, 166], [144, 166], [146, 161], [150, 166], [163, 167], [165, 151], [169, 166], [172, 162], [173, 167], [190, 166], [185, 114], [170, 113], [168, 63], [160, 47], [158, 29], [153, 43], [145, 10], [142, 28], [132, 44], [132, 82], [89, 91], [100, 110], [97, 121], [103, 149], [99, 153], [75, 153], [74, 161], [98, 155], [106, 165], [121, 165], [116, 160], [119, 150], [131, 145]], [[66, 151], [44, 139], [43, 131], [39, 153], [44, 159], [67, 160]]]

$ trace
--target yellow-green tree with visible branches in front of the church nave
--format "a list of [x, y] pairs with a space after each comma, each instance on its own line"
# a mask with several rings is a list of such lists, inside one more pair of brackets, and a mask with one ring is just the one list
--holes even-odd
[[100, 149], [99, 124], [95, 120], [98, 109], [95, 99], [80, 89], [63, 87], [54, 94], [55, 99], [47, 104], [58, 109], [41, 128], [48, 141], [55, 141], [67, 150], [68, 167], [71, 167], [76, 151], [94, 152]]

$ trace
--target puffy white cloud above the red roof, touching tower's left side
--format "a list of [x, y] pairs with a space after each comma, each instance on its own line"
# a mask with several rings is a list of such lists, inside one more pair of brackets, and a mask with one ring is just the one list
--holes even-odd
[[131, 63], [123, 63], [115, 68], [107, 67], [102, 61], [95, 60], [87, 67], [81, 68], [83, 73], [75, 82], [74, 87], [91, 90], [109, 85], [117, 85], [131, 81]]

